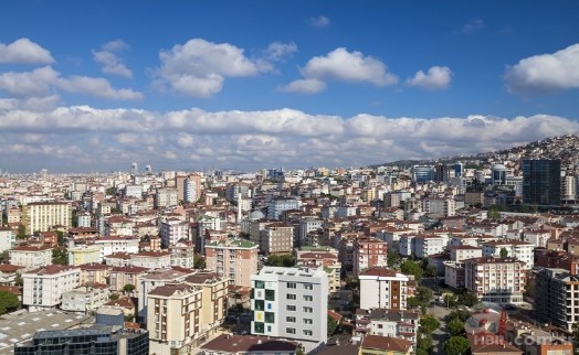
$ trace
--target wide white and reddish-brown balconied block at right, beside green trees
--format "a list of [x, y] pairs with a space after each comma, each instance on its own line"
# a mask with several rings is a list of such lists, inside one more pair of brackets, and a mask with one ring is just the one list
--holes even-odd
[[464, 286], [483, 302], [523, 302], [526, 280], [525, 262], [515, 258], [464, 260]]

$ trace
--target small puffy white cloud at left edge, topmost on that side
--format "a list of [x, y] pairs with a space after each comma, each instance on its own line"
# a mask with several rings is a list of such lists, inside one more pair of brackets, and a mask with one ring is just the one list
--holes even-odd
[[0, 43], [0, 63], [52, 64], [54, 58], [39, 44], [19, 39], [10, 44]]

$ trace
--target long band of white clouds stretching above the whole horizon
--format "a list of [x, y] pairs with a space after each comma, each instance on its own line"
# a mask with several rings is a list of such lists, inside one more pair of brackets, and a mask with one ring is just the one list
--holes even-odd
[[[127, 169], [133, 161], [167, 169], [256, 170], [282, 163], [350, 166], [485, 152], [577, 133], [579, 122], [549, 115], [425, 119], [338, 117], [295, 109], [157, 112], [76, 106], [34, 111], [3, 100], [0, 131], [6, 141], [17, 142], [0, 150], [0, 165], [12, 171], [38, 171], [49, 158], [61, 171]], [[95, 161], [98, 142], [103, 148]], [[74, 147], [77, 155], [66, 154], [67, 147]]]

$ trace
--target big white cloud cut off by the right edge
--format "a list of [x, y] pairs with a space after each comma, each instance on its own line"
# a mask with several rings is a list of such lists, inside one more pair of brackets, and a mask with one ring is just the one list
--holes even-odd
[[579, 87], [579, 43], [554, 54], [534, 55], [506, 69], [507, 89], [516, 94], [545, 94]]

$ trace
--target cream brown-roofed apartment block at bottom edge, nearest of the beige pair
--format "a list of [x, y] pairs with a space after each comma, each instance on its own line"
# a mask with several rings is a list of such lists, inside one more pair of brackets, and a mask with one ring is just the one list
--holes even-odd
[[151, 354], [192, 354], [200, 337], [202, 291], [168, 283], [147, 294], [147, 331]]

